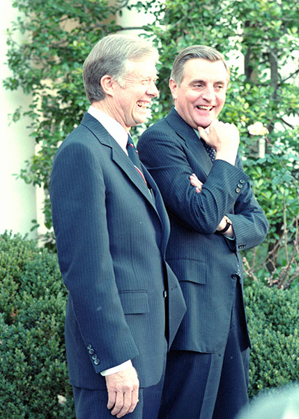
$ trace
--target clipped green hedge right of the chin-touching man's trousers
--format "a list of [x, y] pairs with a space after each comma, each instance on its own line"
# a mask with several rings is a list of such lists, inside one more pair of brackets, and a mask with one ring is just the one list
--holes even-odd
[[267, 388], [299, 381], [298, 288], [270, 289], [252, 282], [245, 288], [252, 341], [250, 397]]

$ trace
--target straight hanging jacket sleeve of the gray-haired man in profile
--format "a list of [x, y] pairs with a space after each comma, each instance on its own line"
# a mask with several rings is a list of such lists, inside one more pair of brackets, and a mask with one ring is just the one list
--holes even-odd
[[[95, 372], [138, 355], [118, 296], [109, 249], [105, 179], [83, 145], [64, 147], [52, 170], [50, 194], [59, 265], [81, 338], [92, 344]], [[79, 337], [78, 337], [79, 339]]]

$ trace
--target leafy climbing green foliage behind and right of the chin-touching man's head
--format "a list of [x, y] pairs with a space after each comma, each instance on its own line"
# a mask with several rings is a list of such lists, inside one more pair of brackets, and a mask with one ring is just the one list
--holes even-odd
[[[143, 3], [137, 2], [137, 7], [142, 9]], [[279, 277], [292, 259], [295, 268], [284, 281], [289, 284], [289, 278], [298, 276], [299, 263], [298, 8], [287, 0], [166, 0], [148, 3], [151, 7], [156, 21], [148, 26], [148, 36], [154, 37], [160, 50], [160, 98], [153, 121], [171, 108], [168, 80], [180, 50], [205, 44], [229, 59], [231, 82], [220, 117], [238, 126], [245, 171], [270, 223], [263, 244], [266, 258], [255, 274], [265, 275], [266, 267], [270, 275]], [[264, 157], [259, 156], [261, 135], [250, 135], [247, 129], [258, 121], [269, 131]], [[285, 258], [279, 258], [282, 247], [287, 250]], [[256, 250], [247, 252], [247, 257], [253, 258], [252, 252]]]

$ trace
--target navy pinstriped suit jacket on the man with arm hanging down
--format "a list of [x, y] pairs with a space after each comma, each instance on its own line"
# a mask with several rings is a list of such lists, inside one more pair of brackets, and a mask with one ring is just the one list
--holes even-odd
[[144, 175], [154, 200], [128, 156], [88, 113], [54, 159], [52, 216], [69, 291], [70, 383], [77, 387], [106, 388], [99, 373], [128, 359], [141, 387], [160, 381], [165, 323], [171, 344], [185, 313], [165, 263], [167, 212], [146, 168]]

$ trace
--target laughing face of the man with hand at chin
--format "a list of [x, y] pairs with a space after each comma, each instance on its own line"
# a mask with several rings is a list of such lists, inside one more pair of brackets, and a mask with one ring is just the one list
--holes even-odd
[[192, 128], [206, 128], [224, 106], [228, 82], [222, 61], [190, 59], [185, 63], [181, 86], [169, 81], [178, 114]]

